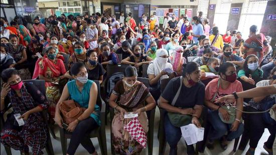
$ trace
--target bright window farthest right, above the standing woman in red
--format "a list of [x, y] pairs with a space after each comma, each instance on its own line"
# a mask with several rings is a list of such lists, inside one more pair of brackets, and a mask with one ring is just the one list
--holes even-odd
[[[242, 5], [238, 31], [243, 32], [243, 39], [249, 36], [249, 28], [256, 25], [260, 30], [267, 0], [245, 0]], [[256, 22], [258, 21], [258, 22]]]

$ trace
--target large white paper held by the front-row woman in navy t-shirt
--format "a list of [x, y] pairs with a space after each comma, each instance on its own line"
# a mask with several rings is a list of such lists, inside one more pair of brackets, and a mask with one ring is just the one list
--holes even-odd
[[187, 145], [191, 145], [197, 143], [198, 141], [202, 141], [204, 137], [204, 128], [198, 128], [195, 124], [189, 124], [185, 126], [181, 126], [181, 133], [184, 137]]

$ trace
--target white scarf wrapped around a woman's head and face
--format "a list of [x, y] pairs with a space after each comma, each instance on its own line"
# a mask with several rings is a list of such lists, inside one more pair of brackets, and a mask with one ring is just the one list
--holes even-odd
[[[161, 73], [161, 71], [163, 71], [164, 69], [166, 69], [167, 66], [167, 61], [168, 58], [162, 58], [160, 56], [168, 56], [168, 51], [165, 49], [159, 49], [156, 51], [156, 58], [155, 60], [153, 60], [153, 64], [154, 64], [154, 74], [158, 75], [159, 73]], [[164, 76], [162, 76], [164, 77]], [[161, 78], [162, 78], [161, 77]]]

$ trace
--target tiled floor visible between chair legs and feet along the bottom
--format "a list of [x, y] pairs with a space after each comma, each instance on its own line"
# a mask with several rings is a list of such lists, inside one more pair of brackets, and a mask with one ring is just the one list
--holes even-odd
[[[154, 150], [153, 150], [153, 154], [158, 154], [158, 150], [159, 150], [159, 141], [157, 139], [157, 131], [158, 131], [158, 124], [159, 124], [159, 117], [160, 113], [159, 113], [159, 109], [157, 108], [156, 109], [156, 116], [155, 116], [155, 134], [154, 134]], [[59, 132], [58, 132], [58, 129], [56, 129], [56, 136], [57, 136], [57, 139], [53, 139], [52, 138], [52, 143], [53, 143], [53, 148], [54, 148], [54, 151], [55, 151], [55, 154], [62, 154], [62, 151], [61, 151], [61, 143], [60, 143], [60, 139], [59, 139]], [[258, 143], [258, 146], [255, 150], [255, 154], [268, 154], [263, 148], [263, 143], [267, 140], [269, 136], [269, 132], [267, 129], [265, 129], [261, 139], [259, 140], [259, 143]], [[98, 141], [97, 141], [97, 138], [92, 138], [92, 141], [93, 141], [93, 144], [98, 152], [98, 154], [101, 154], [100, 153], [100, 148], [99, 148], [99, 145], [98, 145]], [[110, 147], [110, 125], [107, 125], [106, 126], [106, 143], [107, 143], [107, 151], [108, 151], [108, 154], [111, 154], [111, 147]], [[68, 140], [68, 144], [69, 144], [69, 140]], [[186, 147], [184, 146], [185, 145], [185, 142], [184, 142], [184, 139], [181, 138], [181, 140], [179, 141], [178, 143], [178, 154], [186, 154]], [[222, 150], [219, 146], [219, 144], [217, 143], [216, 146], [215, 146], [215, 149], [213, 150], [209, 150], [208, 148], [205, 149], [205, 152], [204, 154], [219, 154], [219, 155], [224, 155], [224, 154], [229, 154], [231, 153], [231, 148], [233, 148], [233, 145], [234, 145], [234, 140], [231, 141], [229, 144], [228, 144], [228, 148], [226, 150]], [[246, 149], [248, 149], [249, 145], [247, 144], [247, 147]], [[31, 151], [31, 149], [30, 149]], [[166, 146], [166, 152], [165, 154], [169, 154], [169, 151], [170, 151], [170, 146], [167, 144]], [[44, 150], [44, 152], [46, 153], [46, 150]], [[12, 153], [13, 154], [20, 154], [19, 151], [16, 151], [16, 150], [13, 150], [12, 149]], [[1, 144], [1, 155], [2, 154], [6, 154], [6, 151], [4, 149], [4, 146]], [[47, 154], [47, 153], [46, 153]], [[87, 151], [80, 145], [76, 151], [76, 154], [79, 154], [79, 155], [86, 155], [86, 154], [89, 154], [87, 153]], [[141, 153], [142, 155], [144, 154], [148, 154], [147, 153], [147, 149], [144, 149]], [[201, 153], [203, 154], [203, 153]], [[242, 153], [242, 155], [245, 154], [245, 152]]]

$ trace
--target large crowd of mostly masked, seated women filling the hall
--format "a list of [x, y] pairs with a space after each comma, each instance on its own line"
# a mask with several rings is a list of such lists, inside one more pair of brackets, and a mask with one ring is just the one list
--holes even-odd
[[[197, 127], [201, 127], [202, 119], [210, 122], [206, 139], [209, 149], [214, 148], [215, 140], [226, 149], [229, 141], [242, 135], [239, 150], [243, 151], [250, 140], [246, 154], [254, 154], [264, 128], [268, 128], [270, 136], [263, 147], [272, 154], [276, 124], [267, 124], [260, 114], [242, 111], [262, 111], [262, 105], [275, 96], [215, 101], [234, 92], [276, 83], [276, 54], [269, 45], [271, 37], [257, 34], [255, 25], [250, 27], [250, 36], [245, 40], [237, 31], [223, 35], [219, 34], [218, 27], [213, 27], [209, 32], [208, 19], [202, 20], [200, 16], [193, 17], [191, 23], [183, 16], [179, 24], [175, 15], [172, 18], [168, 15], [164, 32], [155, 15], [149, 21], [142, 16], [139, 26], [131, 13], [124, 23], [119, 23], [115, 16], [100, 14], [36, 17], [34, 25], [28, 27], [17, 19], [9, 25], [1, 17], [1, 111], [11, 103], [13, 114], [20, 113], [25, 125], [14, 124], [16, 118], [8, 114], [1, 131], [4, 145], [23, 154], [31, 146], [34, 154], [42, 154], [48, 137], [40, 112], [48, 109], [50, 123], [63, 128], [59, 107], [63, 101], [72, 99], [85, 111], [68, 124], [66, 130], [72, 132], [72, 138], [67, 154], [74, 154], [79, 144], [89, 153], [97, 154], [86, 136], [102, 123], [100, 107], [96, 104], [100, 90], [93, 80], [103, 85], [108, 80], [105, 76], [108, 65], [126, 64], [129, 66], [124, 70], [123, 79], [116, 82], [108, 98], [109, 107], [115, 111], [111, 140], [116, 153], [140, 154], [143, 150], [124, 130], [131, 120], [124, 119], [124, 114], [137, 113], [147, 133], [146, 111], [158, 105], [167, 111], [162, 127], [172, 155], [177, 154], [182, 133], [171, 121], [170, 113], [190, 116], [189, 123]], [[137, 80], [143, 76], [145, 66], [149, 88]], [[30, 79], [44, 80], [46, 94], [24, 81]], [[164, 79], [169, 79], [169, 83], [161, 92]], [[243, 107], [244, 101], [249, 106]], [[225, 105], [239, 109], [231, 123], [227, 123], [230, 114], [223, 108]], [[204, 107], [208, 109], [207, 118], [201, 115]], [[195, 153], [193, 145], [187, 145], [187, 153]]]

